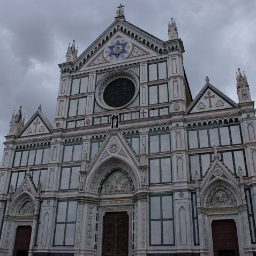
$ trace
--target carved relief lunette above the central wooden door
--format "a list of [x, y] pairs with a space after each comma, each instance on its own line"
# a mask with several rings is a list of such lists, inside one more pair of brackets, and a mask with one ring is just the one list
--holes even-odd
[[128, 177], [122, 171], [113, 172], [103, 183], [101, 193], [130, 193], [132, 185]]

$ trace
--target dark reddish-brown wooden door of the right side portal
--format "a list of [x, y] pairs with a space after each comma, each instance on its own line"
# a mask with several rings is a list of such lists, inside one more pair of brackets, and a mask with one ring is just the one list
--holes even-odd
[[212, 223], [214, 256], [239, 256], [237, 229], [234, 220], [216, 220]]

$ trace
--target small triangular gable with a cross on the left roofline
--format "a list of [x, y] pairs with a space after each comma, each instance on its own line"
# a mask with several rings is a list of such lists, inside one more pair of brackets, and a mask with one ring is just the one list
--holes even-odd
[[44, 116], [41, 111], [37, 110], [17, 135], [17, 137], [51, 133], [51, 129], [52, 126], [46, 116]]

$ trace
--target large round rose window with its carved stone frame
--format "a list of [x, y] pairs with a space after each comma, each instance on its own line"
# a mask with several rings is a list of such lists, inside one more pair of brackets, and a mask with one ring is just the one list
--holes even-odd
[[130, 70], [119, 70], [103, 77], [97, 85], [96, 101], [104, 109], [125, 108], [139, 93], [139, 79]]

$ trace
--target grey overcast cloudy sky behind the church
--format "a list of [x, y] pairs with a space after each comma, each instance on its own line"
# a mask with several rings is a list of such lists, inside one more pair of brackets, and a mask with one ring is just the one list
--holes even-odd
[[[2, 2], [2, 3], [1, 3]], [[26, 121], [39, 104], [54, 120], [59, 63], [76, 39], [78, 55], [115, 19], [116, 0], [0, 0], [0, 154], [14, 109]], [[193, 98], [205, 77], [237, 102], [236, 71], [245, 71], [256, 99], [256, 1], [124, 0], [126, 20], [168, 40], [176, 19]]]

